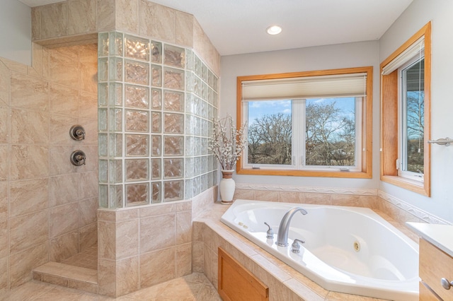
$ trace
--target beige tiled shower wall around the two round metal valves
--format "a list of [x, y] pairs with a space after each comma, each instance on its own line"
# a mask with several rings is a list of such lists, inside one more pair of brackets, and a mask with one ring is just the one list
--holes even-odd
[[[33, 44], [33, 66], [0, 58], [0, 295], [97, 241], [96, 51]], [[76, 149], [86, 165], [71, 165]]]

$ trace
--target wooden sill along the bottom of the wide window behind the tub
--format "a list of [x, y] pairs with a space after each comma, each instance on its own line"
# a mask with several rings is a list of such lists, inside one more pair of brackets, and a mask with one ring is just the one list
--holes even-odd
[[237, 175], [276, 175], [276, 176], [292, 176], [292, 177], [338, 177], [338, 178], [357, 178], [371, 179], [371, 172], [331, 172], [331, 171], [316, 171], [316, 170], [271, 170], [271, 169], [255, 169], [241, 168], [236, 170]]

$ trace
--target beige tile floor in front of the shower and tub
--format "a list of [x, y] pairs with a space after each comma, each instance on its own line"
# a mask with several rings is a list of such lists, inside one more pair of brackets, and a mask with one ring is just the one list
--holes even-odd
[[80, 290], [30, 281], [12, 290], [1, 301], [222, 301], [214, 286], [202, 273], [192, 273], [144, 288], [137, 292], [117, 298], [110, 298]]

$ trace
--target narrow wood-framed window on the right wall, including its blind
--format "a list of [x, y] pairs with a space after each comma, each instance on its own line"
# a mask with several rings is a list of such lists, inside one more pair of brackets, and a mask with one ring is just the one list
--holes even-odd
[[381, 179], [430, 196], [430, 23], [381, 64]]

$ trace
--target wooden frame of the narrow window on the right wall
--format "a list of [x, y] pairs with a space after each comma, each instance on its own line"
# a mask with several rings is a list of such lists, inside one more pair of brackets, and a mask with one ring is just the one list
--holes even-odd
[[424, 196], [431, 195], [430, 158], [431, 148], [428, 141], [431, 135], [431, 23], [418, 30], [401, 47], [396, 49], [380, 65], [381, 73], [389, 62], [408, 49], [414, 42], [425, 37], [425, 137], [424, 137], [424, 181], [415, 182], [398, 176], [396, 160], [398, 159], [398, 69], [381, 77], [381, 181], [394, 184], [403, 189], [414, 191]]

